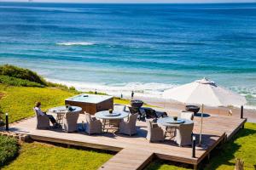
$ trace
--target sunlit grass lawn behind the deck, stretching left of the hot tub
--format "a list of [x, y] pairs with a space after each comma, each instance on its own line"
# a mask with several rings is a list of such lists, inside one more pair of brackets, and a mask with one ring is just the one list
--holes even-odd
[[[0, 83], [0, 113], [9, 113], [10, 122], [33, 116], [32, 107], [41, 101], [42, 109], [65, 105], [65, 99], [76, 95], [57, 88], [10, 87]], [[115, 103], [127, 105], [130, 100], [114, 99]], [[4, 118], [4, 116], [3, 116]]]

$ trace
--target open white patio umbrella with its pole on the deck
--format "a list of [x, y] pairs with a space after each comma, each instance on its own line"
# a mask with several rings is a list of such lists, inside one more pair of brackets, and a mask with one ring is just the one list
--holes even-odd
[[[184, 84], [177, 88], [171, 88], [163, 93], [165, 99], [173, 99], [184, 104], [202, 105], [201, 132], [203, 121], [203, 105], [209, 106], [240, 106], [247, 100], [240, 94], [219, 87], [215, 82], [203, 78], [195, 82]], [[201, 132], [199, 144], [201, 144]]]

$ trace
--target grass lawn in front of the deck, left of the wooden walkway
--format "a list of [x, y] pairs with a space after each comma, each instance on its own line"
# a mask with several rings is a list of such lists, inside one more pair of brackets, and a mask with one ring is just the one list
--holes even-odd
[[20, 155], [3, 170], [27, 169], [87, 169], [101, 167], [113, 155], [90, 150], [68, 149], [33, 142], [21, 145]]

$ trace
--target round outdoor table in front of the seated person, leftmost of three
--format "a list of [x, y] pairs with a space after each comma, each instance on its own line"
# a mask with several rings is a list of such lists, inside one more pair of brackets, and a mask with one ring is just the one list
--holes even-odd
[[65, 113], [67, 112], [80, 113], [82, 111], [81, 107], [78, 107], [78, 106], [71, 106], [71, 107], [73, 111], [67, 111], [66, 105], [61, 105], [61, 106], [57, 106], [49, 109], [48, 112], [56, 114], [56, 122], [58, 123], [58, 125], [61, 125], [63, 124], [63, 117]]

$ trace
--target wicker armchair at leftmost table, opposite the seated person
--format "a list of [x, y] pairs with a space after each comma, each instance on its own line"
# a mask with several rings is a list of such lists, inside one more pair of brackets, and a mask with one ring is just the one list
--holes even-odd
[[67, 112], [64, 115], [63, 127], [67, 133], [78, 130], [79, 113]]

